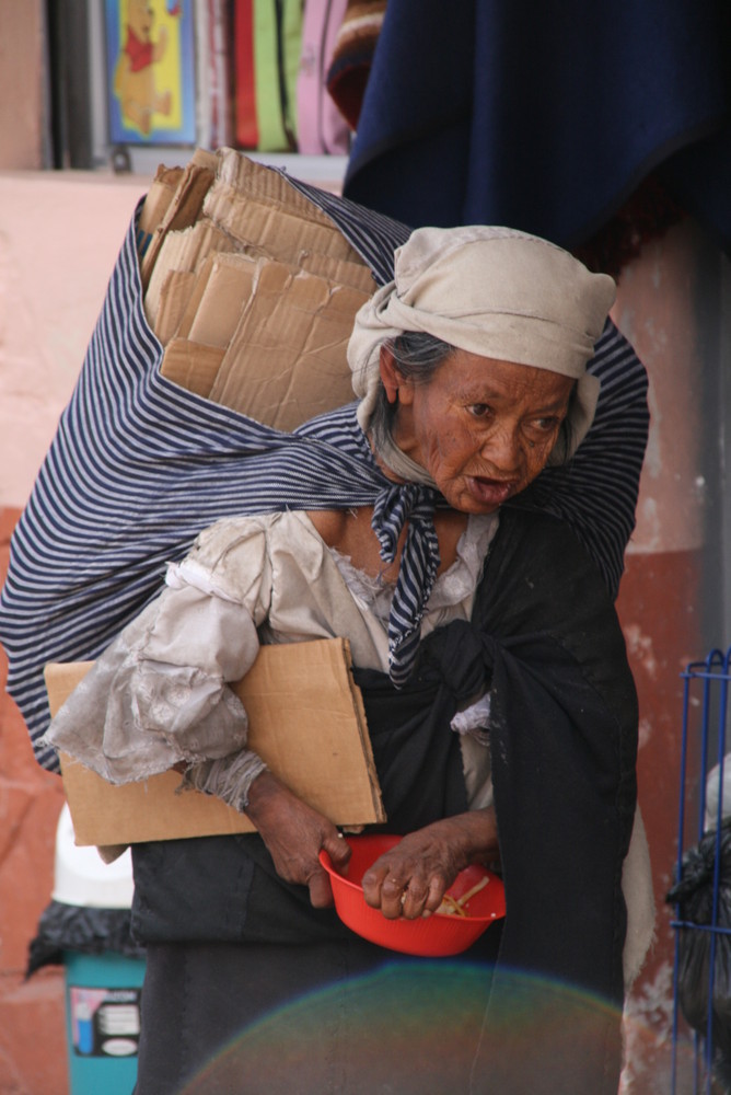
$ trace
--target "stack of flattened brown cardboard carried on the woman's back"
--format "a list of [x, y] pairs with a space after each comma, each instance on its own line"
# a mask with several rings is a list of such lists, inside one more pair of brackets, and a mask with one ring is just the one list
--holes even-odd
[[353, 399], [346, 348], [375, 284], [278, 172], [233, 149], [161, 166], [138, 246], [169, 380], [282, 430]]

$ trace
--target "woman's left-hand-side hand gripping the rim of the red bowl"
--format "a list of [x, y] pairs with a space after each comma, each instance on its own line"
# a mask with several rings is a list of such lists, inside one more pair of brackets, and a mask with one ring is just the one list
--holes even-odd
[[271, 772], [262, 772], [252, 783], [246, 816], [267, 845], [279, 877], [308, 886], [315, 909], [330, 906], [329, 876], [317, 856], [325, 849], [341, 873], [350, 858], [350, 848], [332, 821], [305, 805]]

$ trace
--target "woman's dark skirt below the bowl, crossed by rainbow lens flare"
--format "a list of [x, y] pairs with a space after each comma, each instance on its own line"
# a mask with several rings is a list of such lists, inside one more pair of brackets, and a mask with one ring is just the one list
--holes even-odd
[[466, 1093], [499, 935], [442, 959], [355, 935], [154, 944], [136, 1095]]

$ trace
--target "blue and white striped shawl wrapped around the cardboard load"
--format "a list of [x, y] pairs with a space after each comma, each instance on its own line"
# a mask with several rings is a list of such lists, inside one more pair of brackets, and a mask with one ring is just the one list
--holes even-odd
[[[405, 226], [291, 182], [340, 227], [379, 284], [392, 278]], [[8, 690], [49, 770], [56, 754], [37, 745], [49, 721], [44, 666], [96, 657], [159, 592], [166, 563], [183, 557], [201, 529], [234, 514], [373, 504], [387, 484], [353, 406], [281, 434], [171, 383], [161, 360], [144, 320], [132, 222], [13, 534], [0, 598]], [[543, 473], [534, 500], [572, 526], [615, 596], [647, 440], [647, 378], [611, 323], [591, 369], [602, 380], [595, 424], [569, 466]], [[381, 497], [386, 508], [402, 502]], [[423, 550], [422, 537], [415, 541]]]

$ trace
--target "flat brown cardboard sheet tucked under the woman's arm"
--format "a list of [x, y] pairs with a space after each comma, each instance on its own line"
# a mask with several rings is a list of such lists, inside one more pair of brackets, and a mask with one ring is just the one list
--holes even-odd
[[[46, 667], [51, 715], [92, 665]], [[297, 795], [338, 826], [385, 821], [347, 639], [263, 646], [234, 691], [248, 713], [251, 748]], [[254, 829], [245, 815], [220, 798], [181, 792], [176, 771], [113, 785], [66, 754], [61, 771], [78, 844], [132, 844]]]

